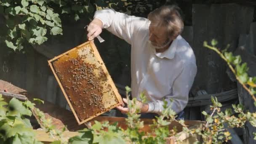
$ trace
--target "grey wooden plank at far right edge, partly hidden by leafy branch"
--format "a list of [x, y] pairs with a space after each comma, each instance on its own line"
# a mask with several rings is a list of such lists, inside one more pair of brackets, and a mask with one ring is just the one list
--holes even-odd
[[[246, 48], [240, 47], [235, 51], [235, 55], [240, 55], [243, 62], [247, 63], [249, 67], [248, 74], [253, 77], [256, 76], [256, 56], [249, 53]], [[254, 106], [254, 101], [251, 98], [251, 95], [243, 88], [240, 83], [237, 82], [238, 98], [240, 104], [243, 104], [245, 110], [249, 112], [255, 112], [256, 107]], [[245, 123], [245, 128], [243, 128], [243, 139], [245, 144], [256, 144], [256, 141], [253, 139], [253, 133], [256, 132], [256, 128], [253, 127], [250, 123]]]

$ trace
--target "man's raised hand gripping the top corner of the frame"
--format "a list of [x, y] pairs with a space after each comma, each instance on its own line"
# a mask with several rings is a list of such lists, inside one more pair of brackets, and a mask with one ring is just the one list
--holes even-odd
[[99, 19], [93, 19], [91, 23], [87, 27], [88, 35], [87, 39], [89, 41], [93, 40], [95, 37], [97, 37], [102, 32], [102, 21]]

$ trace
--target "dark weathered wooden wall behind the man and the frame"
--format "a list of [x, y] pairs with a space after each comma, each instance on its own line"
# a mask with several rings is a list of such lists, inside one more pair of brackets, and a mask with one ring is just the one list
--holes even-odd
[[[204, 120], [201, 111], [209, 110], [211, 95], [218, 97], [224, 104], [224, 109], [231, 107], [231, 104], [240, 103], [245, 105], [246, 110], [255, 112], [256, 108], [251, 97], [237, 84], [219, 55], [203, 47], [203, 41], [209, 42], [215, 38], [219, 42], [217, 47], [220, 49], [230, 44], [229, 51], [241, 55], [242, 60], [250, 67], [249, 75], [256, 76], [256, 2], [254, 0], [181, 1], [188, 7], [184, 11], [189, 11], [186, 16], [190, 21], [184, 27], [182, 36], [192, 46], [197, 59], [197, 76], [185, 109], [185, 118]], [[47, 43], [40, 46], [27, 45], [25, 53], [14, 53], [10, 48], [6, 48], [4, 43], [0, 43], [0, 79], [48, 101], [52, 104], [49, 108], [69, 109], [48, 67], [47, 60], [83, 43], [85, 41], [83, 27], [88, 22], [83, 19], [76, 24], [65, 21], [63, 37], [49, 39]], [[1, 24], [5, 24], [5, 21], [0, 16], [0, 26]], [[119, 93], [125, 95], [124, 86], [131, 83], [130, 45], [107, 31], [104, 31], [101, 36], [106, 42], [97, 43], [96, 41], [96, 46]], [[111, 54], [113, 48], [119, 53], [118, 55]], [[115, 63], [116, 59], [121, 62]], [[27, 95], [27, 91], [21, 94]], [[47, 108], [42, 107], [42, 109]], [[51, 115], [57, 113], [56, 111]], [[118, 112], [113, 112], [111, 115], [118, 115]], [[70, 115], [70, 117], [73, 116]], [[59, 120], [62, 120], [61, 117]], [[59, 123], [66, 123], [60, 121]], [[71, 118], [70, 121], [72, 121]], [[77, 130], [77, 127], [71, 126], [71, 129]], [[238, 135], [236, 139], [242, 139], [245, 144], [256, 144], [252, 135], [256, 132], [256, 128], [250, 124], [246, 124], [243, 130], [235, 129], [235, 132]]]

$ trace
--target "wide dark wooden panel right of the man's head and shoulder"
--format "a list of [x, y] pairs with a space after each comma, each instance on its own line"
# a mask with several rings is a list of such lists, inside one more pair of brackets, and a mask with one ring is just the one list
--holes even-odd
[[203, 47], [203, 41], [215, 38], [218, 48], [230, 44], [229, 51], [235, 51], [239, 35], [249, 33], [253, 11], [253, 7], [237, 4], [193, 4], [192, 48], [197, 58], [193, 88], [218, 93], [236, 87], [226, 74], [227, 64], [216, 52]]

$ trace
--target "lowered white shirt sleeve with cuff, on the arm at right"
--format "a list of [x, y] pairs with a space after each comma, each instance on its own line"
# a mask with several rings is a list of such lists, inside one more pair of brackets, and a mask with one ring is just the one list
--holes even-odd
[[[181, 73], [173, 82], [173, 94], [165, 96], [165, 101], [168, 102], [167, 106], [171, 105], [171, 109], [173, 109], [176, 114], [181, 112], [187, 105], [189, 91], [194, 82], [196, 73], [196, 64], [185, 64]], [[149, 103], [148, 112], [160, 114], [163, 111], [163, 104], [164, 102], [160, 100]]]

